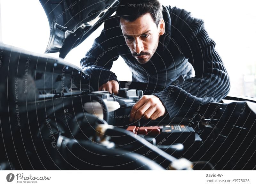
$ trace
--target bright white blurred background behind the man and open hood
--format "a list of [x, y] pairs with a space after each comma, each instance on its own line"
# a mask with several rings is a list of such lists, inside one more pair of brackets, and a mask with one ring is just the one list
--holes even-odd
[[[252, 0], [204, 1], [161, 0], [164, 5], [177, 6], [203, 19], [205, 29], [216, 42], [231, 77], [230, 94], [256, 97], [256, 14]], [[49, 23], [38, 0], [0, 0], [2, 35], [5, 44], [44, 53], [49, 40]], [[80, 59], [91, 48], [102, 26], [85, 42], [73, 49], [66, 61], [80, 66]], [[58, 57], [58, 54], [50, 54]], [[114, 62], [111, 69], [118, 80], [131, 81], [131, 72], [122, 58]], [[125, 73], [124, 73], [125, 72]]]

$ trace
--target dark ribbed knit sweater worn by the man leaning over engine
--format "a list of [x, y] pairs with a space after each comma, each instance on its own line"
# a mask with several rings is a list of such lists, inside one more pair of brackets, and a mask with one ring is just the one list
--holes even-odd
[[110, 68], [113, 61], [122, 56], [132, 71], [133, 81], [166, 87], [154, 95], [162, 101], [170, 117], [220, 101], [229, 92], [230, 79], [214, 49], [215, 42], [204, 28], [204, 21], [171, 6], [163, 6], [163, 18], [165, 33], [146, 64], [138, 63], [131, 55], [115, 19], [105, 21], [102, 33], [81, 60], [85, 73], [91, 76], [90, 84], [98, 89], [109, 80], [117, 81]]

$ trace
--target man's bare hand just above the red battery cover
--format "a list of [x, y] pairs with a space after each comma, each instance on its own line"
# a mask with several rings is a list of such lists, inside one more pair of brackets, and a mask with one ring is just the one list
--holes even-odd
[[143, 119], [155, 120], [166, 113], [163, 103], [154, 95], [144, 95], [132, 107], [130, 122]]

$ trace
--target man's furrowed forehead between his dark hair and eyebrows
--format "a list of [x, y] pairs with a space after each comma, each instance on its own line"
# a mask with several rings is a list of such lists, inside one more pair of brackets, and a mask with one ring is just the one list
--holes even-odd
[[120, 26], [123, 34], [140, 34], [156, 28], [156, 24], [150, 13], [140, 16], [132, 22], [121, 18]]

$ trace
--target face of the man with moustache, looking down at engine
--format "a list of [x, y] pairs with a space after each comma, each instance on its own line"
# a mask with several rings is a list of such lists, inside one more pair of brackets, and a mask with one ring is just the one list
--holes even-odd
[[147, 13], [132, 22], [121, 18], [120, 25], [132, 56], [141, 64], [147, 63], [156, 51], [159, 36], [164, 34], [164, 20], [156, 26]]

